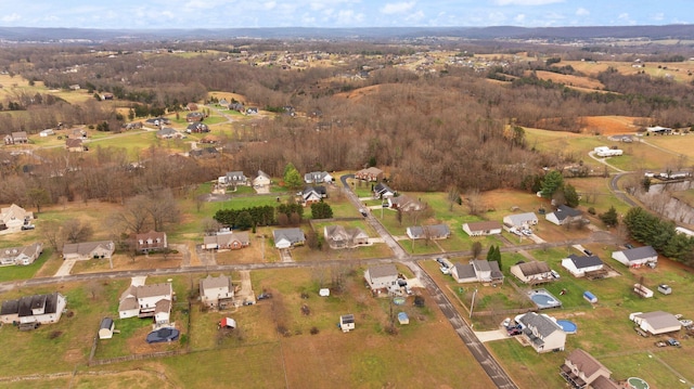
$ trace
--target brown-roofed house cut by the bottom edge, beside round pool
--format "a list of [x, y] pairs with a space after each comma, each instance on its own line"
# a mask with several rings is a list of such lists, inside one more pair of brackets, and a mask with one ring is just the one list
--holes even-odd
[[560, 367], [560, 374], [575, 389], [618, 389], [612, 372], [588, 352], [576, 349], [569, 352]]

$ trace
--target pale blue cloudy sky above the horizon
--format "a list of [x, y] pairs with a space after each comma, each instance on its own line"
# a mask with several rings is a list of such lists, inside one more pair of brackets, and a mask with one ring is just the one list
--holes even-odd
[[0, 0], [0, 27], [560, 27], [694, 23], [692, 0]]

